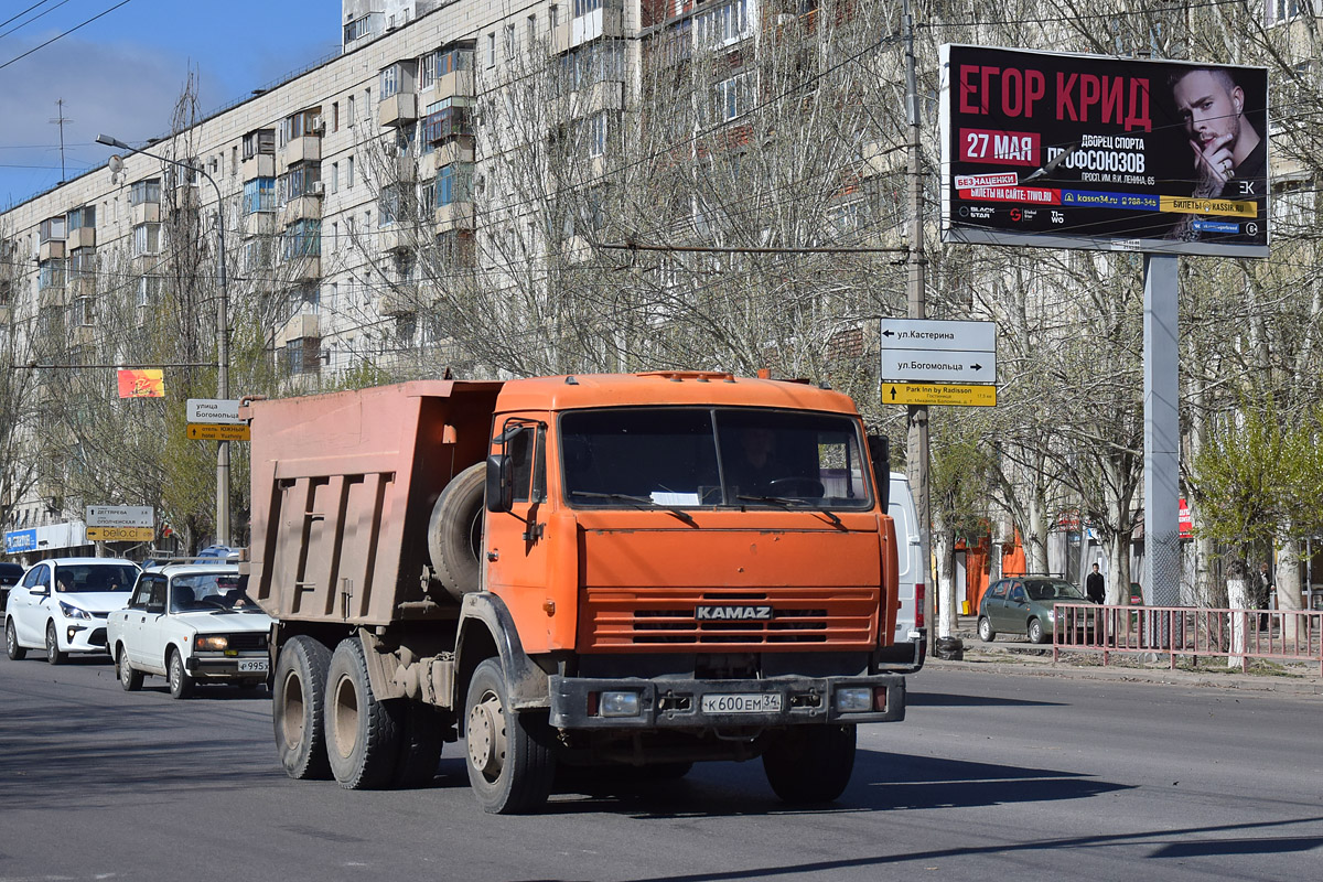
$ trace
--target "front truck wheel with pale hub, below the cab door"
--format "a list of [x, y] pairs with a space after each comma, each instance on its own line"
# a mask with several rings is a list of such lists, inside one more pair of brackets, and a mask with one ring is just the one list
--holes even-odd
[[468, 783], [484, 812], [521, 815], [546, 801], [556, 779], [552, 727], [545, 711], [515, 713], [495, 659], [468, 681], [464, 738]]

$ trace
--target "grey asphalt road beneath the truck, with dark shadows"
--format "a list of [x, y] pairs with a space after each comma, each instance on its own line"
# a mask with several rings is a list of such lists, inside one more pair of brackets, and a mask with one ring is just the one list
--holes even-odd
[[1323, 700], [929, 669], [861, 733], [835, 805], [791, 811], [761, 764], [472, 801], [459, 748], [429, 788], [288, 780], [266, 693], [108, 661], [0, 657], [0, 881], [1307, 879], [1323, 866]]

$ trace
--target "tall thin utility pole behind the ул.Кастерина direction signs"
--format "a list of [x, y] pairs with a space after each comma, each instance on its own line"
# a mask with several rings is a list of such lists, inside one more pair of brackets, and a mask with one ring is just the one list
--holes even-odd
[[[918, 75], [914, 62], [914, 16], [910, 12], [910, 0], [901, 3], [901, 28], [905, 37], [905, 112], [909, 124], [909, 168], [906, 182], [909, 192], [909, 253], [905, 261], [908, 272], [906, 283], [906, 316], [910, 319], [927, 317], [927, 296], [923, 291], [923, 267], [927, 264], [923, 257], [923, 175], [921, 167], [919, 141], [919, 106], [918, 106]], [[909, 476], [910, 491], [914, 493], [914, 508], [918, 509], [918, 537], [919, 537], [919, 579], [925, 586], [923, 591], [923, 623], [927, 627], [927, 648], [933, 651], [937, 639], [937, 620], [933, 616], [935, 610], [937, 586], [933, 583], [933, 509], [927, 487], [927, 406], [909, 406], [909, 431], [905, 443], [905, 471]]]

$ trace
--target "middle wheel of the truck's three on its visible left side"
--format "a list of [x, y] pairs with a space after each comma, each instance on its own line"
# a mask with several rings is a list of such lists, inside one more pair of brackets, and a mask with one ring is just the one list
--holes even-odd
[[388, 702], [378, 701], [357, 637], [331, 655], [324, 714], [327, 759], [340, 787], [373, 789], [392, 783], [400, 729]]

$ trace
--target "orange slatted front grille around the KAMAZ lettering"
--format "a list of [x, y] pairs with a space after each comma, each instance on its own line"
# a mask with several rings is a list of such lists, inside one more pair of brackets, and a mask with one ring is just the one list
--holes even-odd
[[[700, 620], [704, 604], [770, 606], [771, 618]], [[877, 588], [587, 588], [579, 648], [869, 648], [877, 641]]]

